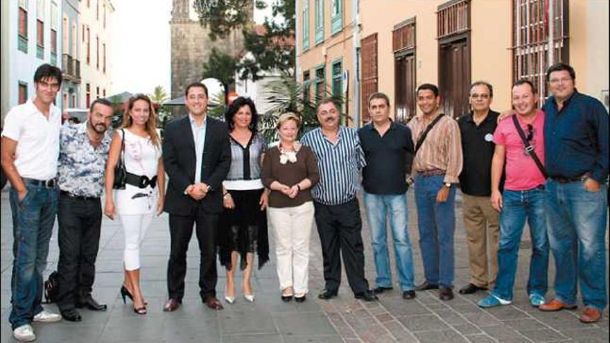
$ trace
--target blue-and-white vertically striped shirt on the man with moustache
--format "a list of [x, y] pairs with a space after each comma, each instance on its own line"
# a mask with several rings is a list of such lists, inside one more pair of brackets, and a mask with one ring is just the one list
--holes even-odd
[[360, 188], [358, 170], [366, 166], [358, 132], [339, 127], [337, 144], [333, 145], [317, 128], [307, 132], [301, 143], [311, 148], [320, 169], [320, 181], [311, 190], [316, 202], [325, 205], [345, 204], [356, 197]]

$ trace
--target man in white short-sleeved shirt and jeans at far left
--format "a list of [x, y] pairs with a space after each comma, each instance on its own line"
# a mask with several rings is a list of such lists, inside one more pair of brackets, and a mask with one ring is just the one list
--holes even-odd
[[62, 71], [42, 64], [34, 73], [36, 94], [13, 107], [4, 119], [1, 164], [10, 181], [13, 265], [10, 317], [15, 339], [36, 339], [31, 322], [58, 322], [44, 310], [42, 273], [49, 254], [58, 205], [59, 137], [62, 113], [53, 105], [62, 85]]

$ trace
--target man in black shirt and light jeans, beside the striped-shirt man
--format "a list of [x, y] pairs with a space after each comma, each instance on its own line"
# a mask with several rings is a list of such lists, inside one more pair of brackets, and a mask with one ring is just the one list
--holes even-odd
[[[369, 96], [372, 122], [358, 131], [367, 166], [363, 168], [364, 202], [371, 228], [377, 270], [376, 293], [392, 289], [387, 252], [386, 220], [394, 237], [397, 274], [404, 299], [415, 297], [413, 257], [407, 231], [407, 166], [413, 154], [411, 130], [390, 120], [390, 99], [383, 93]], [[409, 163], [410, 164], [410, 163]]]

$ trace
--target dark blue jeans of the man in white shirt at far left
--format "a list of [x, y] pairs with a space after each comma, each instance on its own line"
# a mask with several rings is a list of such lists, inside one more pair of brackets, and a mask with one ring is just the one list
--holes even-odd
[[28, 193], [19, 203], [17, 191], [10, 190], [12, 211], [12, 328], [29, 324], [43, 310], [42, 273], [49, 254], [49, 240], [58, 206], [58, 188], [26, 184]]

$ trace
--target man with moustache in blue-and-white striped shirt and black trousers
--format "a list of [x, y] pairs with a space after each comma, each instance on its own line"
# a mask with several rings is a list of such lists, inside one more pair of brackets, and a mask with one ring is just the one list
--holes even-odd
[[320, 169], [320, 181], [312, 189], [315, 225], [322, 243], [324, 281], [318, 298], [336, 297], [341, 282], [341, 258], [356, 299], [374, 301], [365, 279], [360, 206], [356, 199], [358, 170], [365, 166], [364, 152], [356, 130], [339, 124], [340, 113], [332, 100], [317, 107], [320, 127], [305, 134], [301, 142], [310, 147]]

